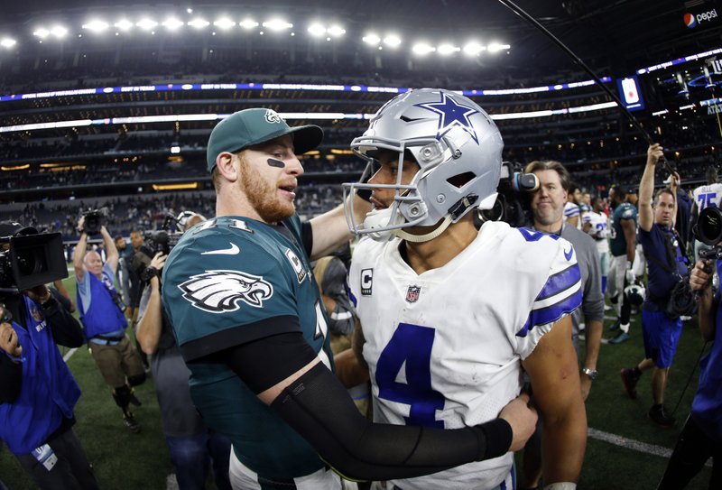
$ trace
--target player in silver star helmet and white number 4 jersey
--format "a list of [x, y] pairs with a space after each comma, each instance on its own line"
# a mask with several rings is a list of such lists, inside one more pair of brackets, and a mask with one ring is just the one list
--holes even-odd
[[[494, 419], [531, 376], [544, 418], [544, 482], [575, 488], [587, 418], [569, 313], [579, 307], [579, 266], [557, 236], [505, 223], [474, 225], [491, 208], [504, 143], [467, 97], [442, 89], [393, 98], [351, 147], [376, 166], [366, 183], [375, 209], [349, 276], [377, 421], [452, 428]], [[363, 330], [361, 330], [363, 328]], [[575, 374], [575, 375], [570, 375]], [[514, 488], [511, 452], [430, 476], [402, 490]]]

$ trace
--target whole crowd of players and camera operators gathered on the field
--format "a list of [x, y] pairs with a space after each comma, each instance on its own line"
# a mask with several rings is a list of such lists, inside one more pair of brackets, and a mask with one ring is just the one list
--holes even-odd
[[[679, 306], [684, 288], [700, 291], [702, 335], [714, 345], [660, 488], [683, 487], [719, 456], [715, 268], [707, 255], [694, 265], [687, 257], [691, 217], [706, 218], [722, 195], [680, 190], [680, 175], [660, 169], [660, 144], [649, 146], [635, 191], [616, 185], [608, 196], [575, 184], [560, 162], [529, 162], [523, 172], [533, 185], [519, 197], [528, 223], [512, 227], [483, 212], [495, 206], [504, 143], [467, 97], [432, 88], [394, 97], [351, 143], [366, 177], [345, 184], [343, 199], [314, 188], [304, 205], [318, 203], [319, 213], [302, 220], [305, 169], [296, 154], [322, 138], [319, 126], [292, 127], [260, 107], [218, 123], [206, 158], [215, 209], [200, 196], [163, 202], [166, 215], [189, 209], [173, 219], [182, 236], [172, 249], [143, 249], [137, 229], [128, 247], [107, 223], [81, 217], [72, 262], [82, 329], [69, 310], [60, 317], [44, 285], [15, 288], [13, 320], [0, 323], [0, 436], [38, 485], [97, 487], [70, 430], [79, 389], [53, 346], [86, 342], [131, 431], [140, 428], [133, 387], [145, 381], [139, 350], [152, 356], [181, 488], [201, 488], [212, 467], [218, 488], [573, 490], [605, 296], [618, 317], [609, 343], [643, 336], [643, 361], [620, 366], [622, 385], [634, 398], [653, 369], [648, 416], [669, 427], [664, 389], [690, 314], [670, 305]], [[657, 174], [669, 180], [655, 192]], [[37, 233], [17, 224], [0, 231]], [[89, 250], [88, 236], [98, 235], [102, 247]], [[341, 287], [326, 273], [346, 264], [323, 258], [355, 237]], [[141, 284], [137, 304], [131, 297], [141, 291], [126, 292], [125, 281]], [[633, 307], [642, 332], [631, 328]], [[347, 336], [349, 319], [351, 348], [340, 356], [330, 329]], [[66, 330], [75, 334], [62, 337]], [[42, 344], [31, 340], [40, 336]], [[30, 363], [48, 368], [26, 370]], [[48, 378], [61, 378], [62, 396], [41, 389]], [[371, 420], [347, 393], [358, 380], [370, 383]], [[20, 403], [43, 423], [20, 420]], [[710, 488], [722, 485], [715, 462]]]

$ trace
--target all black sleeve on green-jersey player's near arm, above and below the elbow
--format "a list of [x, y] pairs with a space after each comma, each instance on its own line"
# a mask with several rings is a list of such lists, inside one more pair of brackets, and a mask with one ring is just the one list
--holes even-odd
[[[262, 338], [229, 350], [233, 352], [227, 354], [227, 364], [255, 393], [315, 358], [300, 332]], [[352, 479], [422, 476], [496, 458], [508, 450], [513, 436], [511, 426], [503, 420], [456, 430], [372, 423], [359, 413], [346, 389], [321, 363], [289, 385], [271, 406], [319, 451], [321, 458]]]

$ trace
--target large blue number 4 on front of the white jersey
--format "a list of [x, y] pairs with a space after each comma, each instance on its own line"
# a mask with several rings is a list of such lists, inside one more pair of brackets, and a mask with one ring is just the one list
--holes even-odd
[[379, 398], [411, 406], [408, 425], [443, 429], [436, 411], [444, 408], [444, 396], [431, 388], [434, 334], [434, 328], [400, 323], [379, 356], [376, 384]]

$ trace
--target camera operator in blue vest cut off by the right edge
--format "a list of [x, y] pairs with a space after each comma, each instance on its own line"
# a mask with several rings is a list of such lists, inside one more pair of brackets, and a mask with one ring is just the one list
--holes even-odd
[[[717, 274], [722, 261], [717, 260]], [[690, 417], [684, 424], [657, 490], [678, 490], [690, 483], [708, 458], [713, 458], [709, 488], [722, 488], [722, 336], [717, 337], [720, 294], [712, 288], [712, 261], [699, 261], [690, 275], [690, 288], [699, 293], [699, 332], [713, 341], [708, 355], [699, 362], [699, 385], [692, 400]]]

